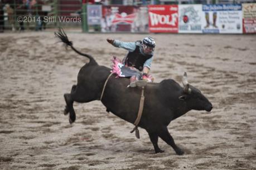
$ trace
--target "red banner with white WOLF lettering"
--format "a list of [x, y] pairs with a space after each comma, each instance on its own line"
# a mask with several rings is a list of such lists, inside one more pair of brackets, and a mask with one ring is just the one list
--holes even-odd
[[178, 32], [177, 5], [148, 6], [149, 32]]

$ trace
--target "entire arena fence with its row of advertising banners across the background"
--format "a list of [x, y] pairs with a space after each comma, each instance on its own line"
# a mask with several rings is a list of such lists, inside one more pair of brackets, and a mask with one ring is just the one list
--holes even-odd
[[256, 3], [242, 1], [152, 0], [127, 6], [115, 1], [111, 5], [79, 0], [12, 2], [4, 4], [4, 13], [0, 13], [2, 25], [9, 30], [65, 27], [83, 32], [256, 33]]

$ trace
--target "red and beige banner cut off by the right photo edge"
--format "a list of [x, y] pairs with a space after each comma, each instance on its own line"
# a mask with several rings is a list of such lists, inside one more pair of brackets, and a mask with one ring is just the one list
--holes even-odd
[[256, 33], [256, 3], [243, 3], [243, 33]]

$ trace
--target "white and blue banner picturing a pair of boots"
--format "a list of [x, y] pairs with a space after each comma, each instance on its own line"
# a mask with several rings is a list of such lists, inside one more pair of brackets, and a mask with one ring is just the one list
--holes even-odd
[[243, 33], [241, 4], [202, 5], [203, 33]]

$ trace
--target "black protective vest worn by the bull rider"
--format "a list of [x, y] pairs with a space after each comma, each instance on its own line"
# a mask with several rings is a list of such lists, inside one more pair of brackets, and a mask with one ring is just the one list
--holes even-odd
[[129, 67], [131, 67], [131, 66], [135, 67], [139, 71], [142, 71], [143, 64], [147, 61], [147, 59], [151, 58], [153, 55], [152, 54], [142, 54], [139, 51], [139, 48], [140, 48], [140, 46], [136, 44], [136, 49], [133, 52], [129, 52], [127, 54], [124, 64]]

